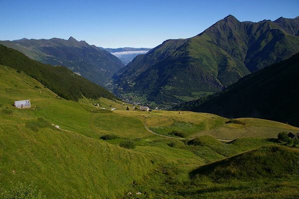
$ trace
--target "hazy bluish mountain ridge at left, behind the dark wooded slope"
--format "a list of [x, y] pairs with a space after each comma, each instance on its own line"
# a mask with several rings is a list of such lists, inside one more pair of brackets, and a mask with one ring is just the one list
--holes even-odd
[[68, 40], [20, 39], [0, 41], [0, 44], [16, 49], [31, 59], [44, 64], [63, 65], [88, 80], [105, 85], [124, 64], [111, 53], [73, 37]]

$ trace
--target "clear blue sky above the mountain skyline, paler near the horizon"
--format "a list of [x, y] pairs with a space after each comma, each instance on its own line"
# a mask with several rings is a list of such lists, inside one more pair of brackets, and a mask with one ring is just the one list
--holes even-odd
[[102, 47], [154, 47], [238, 20], [299, 15], [299, 0], [0, 0], [0, 40], [85, 40]]

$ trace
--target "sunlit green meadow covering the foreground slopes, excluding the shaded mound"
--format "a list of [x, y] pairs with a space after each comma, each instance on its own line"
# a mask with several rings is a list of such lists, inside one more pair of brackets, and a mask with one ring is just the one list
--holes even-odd
[[[22, 99], [30, 99], [32, 108], [12, 106]], [[268, 120], [237, 120], [242, 124], [208, 113], [143, 112], [105, 98], [68, 101], [23, 72], [0, 66], [0, 198], [19, 183], [36, 186], [50, 199], [255, 198], [261, 193], [275, 198], [286, 194], [287, 187], [293, 194], [288, 196], [298, 194], [298, 176], [266, 185], [267, 179], [219, 183], [209, 176], [202, 182], [190, 178], [199, 166], [263, 146], [286, 145], [271, 139], [279, 131], [299, 131]], [[187, 132], [188, 138], [154, 135], [144, 123], [164, 135]], [[104, 135], [117, 139], [103, 140]], [[216, 138], [238, 139], [225, 143]], [[119, 147], [124, 140], [133, 140], [136, 149]]]

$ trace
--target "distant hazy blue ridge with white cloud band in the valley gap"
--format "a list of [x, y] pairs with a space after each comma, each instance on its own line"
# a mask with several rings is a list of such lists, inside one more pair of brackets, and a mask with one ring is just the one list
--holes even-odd
[[102, 50], [107, 50], [111, 54], [115, 55], [119, 58], [125, 65], [130, 63], [137, 55], [146, 54], [150, 48], [131, 48], [131, 47], [124, 47], [124, 48], [102, 48]]

